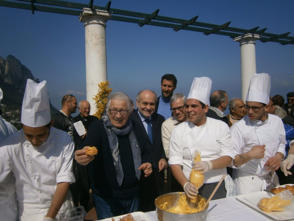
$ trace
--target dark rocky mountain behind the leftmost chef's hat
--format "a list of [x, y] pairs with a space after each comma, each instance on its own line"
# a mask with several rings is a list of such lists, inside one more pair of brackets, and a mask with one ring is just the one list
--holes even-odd
[[[1, 100], [2, 117], [20, 129], [20, 112], [27, 79], [39, 83], [31, 71], [12, 55], [6, 60], [0, 57], [0, 88], [3, 91]], [[58, 111], [50, 103], [51, 116]]]

